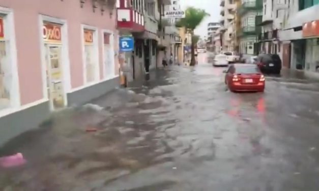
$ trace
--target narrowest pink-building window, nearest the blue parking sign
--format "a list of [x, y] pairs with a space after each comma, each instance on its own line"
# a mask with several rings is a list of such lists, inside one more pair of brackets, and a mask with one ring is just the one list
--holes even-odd
[[112, 78], [115, 75], [113, 35], [110, 33], [103, 34], [104, 39], [104, 77]]

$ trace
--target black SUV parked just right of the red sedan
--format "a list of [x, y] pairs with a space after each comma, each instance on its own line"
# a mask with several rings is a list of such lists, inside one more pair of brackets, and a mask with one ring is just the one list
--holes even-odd
[[263, 73], [280, 74], [282, 61], [278, 54], [259, 54], [256, 63]]

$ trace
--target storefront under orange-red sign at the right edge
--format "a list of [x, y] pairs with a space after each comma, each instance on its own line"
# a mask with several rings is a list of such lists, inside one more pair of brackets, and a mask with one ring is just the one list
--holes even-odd
[[305, 44], [304, 70], [319, 72], [319, 20], [303, 24], [302, 36]]

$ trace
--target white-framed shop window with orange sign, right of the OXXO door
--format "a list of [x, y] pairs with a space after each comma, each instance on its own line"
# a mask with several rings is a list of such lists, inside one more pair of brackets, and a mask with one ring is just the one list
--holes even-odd
[[99, 79], [98, 44], [96, 30], [84, 29], [84, 69], [86, 83]]

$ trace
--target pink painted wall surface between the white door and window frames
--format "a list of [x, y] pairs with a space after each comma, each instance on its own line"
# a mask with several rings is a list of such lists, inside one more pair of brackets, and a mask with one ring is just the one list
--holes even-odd
[[[115, 16], [113, 16], [113, 19], [110, 18], [107, 11], [103, 16], [98, 10], [96, 13], [93, 13], [91, 3], [85, 3], [84, 7], [80, 8], [79, 1], [76, 0], [63, 2], [52, 0], [7, 0], [0, 2], [0, 6], [10, 8], [14, 11], [18, 76], [22, 105], [44, 98], [40, 51], [40, 37], [42, 34], [40, 34], [39, 30], [40, 13], [67, 21], [71, 89], [84, 85], [81, 24], [97, 26], [100, 29], [115, 30]], [[72, 11], [70, 11], [70, 8], [72, 8]], [[25, 29], [26, 23], [27, 30]], [[22, 31], [23, 33], [21, 33]], [[101, 34], [101, 31], [99, 31], [99, 34]], [[103, 65], [102, 55], [102, 42], [100, 41], [100, 71]], [[30, 75], [30, 69], [33, 71], [32, 75]], [[32, 91], [30, 91], [30, 84], [33, 86]]]

